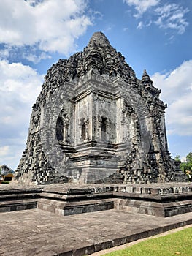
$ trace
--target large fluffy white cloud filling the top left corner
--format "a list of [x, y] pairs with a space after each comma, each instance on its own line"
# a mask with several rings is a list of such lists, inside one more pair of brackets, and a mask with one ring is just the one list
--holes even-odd
[[85, 0], [0, 1], [0, 43], [68, 54], [91, 18]]

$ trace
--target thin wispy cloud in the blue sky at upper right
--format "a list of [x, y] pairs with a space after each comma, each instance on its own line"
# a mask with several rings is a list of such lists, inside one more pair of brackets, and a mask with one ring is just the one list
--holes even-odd
[[155, 23], [162, 29], [175, 29], [179, 34], [183, 34], [188, 26], [188, 22], [184, 18], [188, 11], [187, 8], [183, 9], [178, 4], [165, 4], [163, 7], [155, 9], [158, 15]]

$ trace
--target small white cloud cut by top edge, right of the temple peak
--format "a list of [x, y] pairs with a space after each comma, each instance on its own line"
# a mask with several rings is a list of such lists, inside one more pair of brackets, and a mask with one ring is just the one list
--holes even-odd
[[134, 5], [137, 10], [137, 14], [134, 17], [139, 18], [144, 12], [146, 12], [150, 7], [154, 7], [159, 3], [159, 0], [124, 0], [128, 5]]

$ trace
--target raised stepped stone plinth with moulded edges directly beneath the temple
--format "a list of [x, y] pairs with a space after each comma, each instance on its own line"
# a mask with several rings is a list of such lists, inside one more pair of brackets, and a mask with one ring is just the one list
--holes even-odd
[[0, 187], [0, 212], [39, 208], [64, 215], [116, 209], [158, 217], [192, 211], [192, 184], [56, 184]]

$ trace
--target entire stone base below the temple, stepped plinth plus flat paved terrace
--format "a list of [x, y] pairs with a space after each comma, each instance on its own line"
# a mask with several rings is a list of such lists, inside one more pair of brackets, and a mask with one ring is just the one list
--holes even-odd
[[0, 255], [88, 255], [192, 224], [192, 184], [1, 185], [0, 218]]

